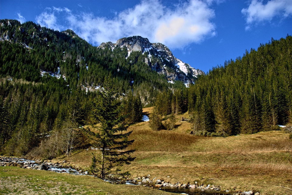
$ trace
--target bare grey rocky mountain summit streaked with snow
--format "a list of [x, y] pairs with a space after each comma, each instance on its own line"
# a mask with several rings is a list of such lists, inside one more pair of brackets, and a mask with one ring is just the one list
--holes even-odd
[[173, 56], [169, 48], [161, 43], [150, 43], [147, 38], [141, 36], [125, 37], [117, 40], [116, 43], [106, 42], [102, 43], [99, 48], [105, 49], [106, 47], [112, 50], [115, 47], [126, 47], [128, 57], [131, 52], [141, 51], [148, 53], [148, 57], [144, 62], [151, 67], [153, 71], [165, 75], [168, 82], [183, 81], [184, 83], [194, 83], [199, 75], [205, 73], [199, 69], [194, 69], [189, 64], [182, 62]]

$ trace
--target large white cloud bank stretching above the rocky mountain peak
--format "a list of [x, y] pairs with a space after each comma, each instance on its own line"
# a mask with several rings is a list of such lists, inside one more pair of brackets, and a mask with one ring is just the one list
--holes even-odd
[[140, 35], [150, 42], [161, 42], [172, 48], [180, 48], [216, 34], [215, 25], [211, 22], [215, 14], [209, 6], [212, 2], [221, 1], [190, 0], [169, 9], [158, 0], [143, 0], [133, 8], [117, 13], [114, 18], [96, 17], [85, 12], [73, 14], [67, 8], [54, 7], [50, 12], [37, 16], [37, 22], [60, 30], [61, 25], [58, 25], [56, 15], [62, 12], [67, 24], [62, 30], [72, 29], [94, 45]]

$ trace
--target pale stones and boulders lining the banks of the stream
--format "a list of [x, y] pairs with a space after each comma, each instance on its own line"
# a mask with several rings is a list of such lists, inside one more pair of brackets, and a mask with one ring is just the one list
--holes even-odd
[[[71, 166], [64, 165], [65, 161], [61, 163], [47, 163], [41, 162], [39, 160], [26, 160], [23, 158], [13, 158], [13, 157], [0, 157], [0, 166], [18, 166], [25, 169], [35, 169], [35, 170], [47, 170], [54, 171], [57, 173], [70, 173], [74, 175], [88, 175], [87, 171], [79, 170], [78, 168], [72, 168]], [[156, 177], [153, 179], [155, 180]], [[258, 192], [254, 193], [252, 191], [246, 192], [229, 192], [221, 191], [220, 186], [205, 186], [203, 183], [195, 182], [193, 185], [183, 184], [183, 183], [167, 183], [162, 180], [157, 179], [154, 183], [150, 179], [150, 175], [146, 177], [138, 177], [134, 179], [127, 179], [125, 181], [109, 181], [110, 183], [125, 183], [128, 185], [143, 185], [145, 187], [151, 187], [158, 190], [164, 190], [172, 193], [181, 193], [188, 195], [260, 195]]]

